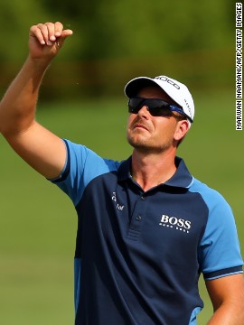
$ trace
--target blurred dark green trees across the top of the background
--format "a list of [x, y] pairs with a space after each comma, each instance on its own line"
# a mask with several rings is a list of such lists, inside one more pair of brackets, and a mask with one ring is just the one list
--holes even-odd
[[50, 84], [57, 90], [70, 85], [69, 96], [110, 92], [108, 87], [121, 88], [122, 79], [137, 73], [170, 71], [176, 79], [182, 74], [193, 82], [209, 82], [210, 73], [223, 80], [230, 76], [234, 37], [230, 0], [12, 0], [1, 2], [0, 12], [0, 86], [12, 69], [5, 62], [23, 60], [27, 53], [29, 27], [47, 21], [61, 21], [74, 35], [45, 79], [46, 95]]

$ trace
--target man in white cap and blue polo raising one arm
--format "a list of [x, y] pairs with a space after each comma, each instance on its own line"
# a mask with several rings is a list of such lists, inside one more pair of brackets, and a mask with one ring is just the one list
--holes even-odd
[[44, 72], [71, 33], [61, 23], [31, 28], [29, 56], [0, 105], [0, 130], [77, 210], [75, 324], [196, 324], [201, 272], [214, 309], [209, 324], [243, 324], [243, 262], [230, 207], [175, 156], [194, 115], [182, 83], [165, 76], [127, 83], [134, 150], [121, 163], [35, 121]]

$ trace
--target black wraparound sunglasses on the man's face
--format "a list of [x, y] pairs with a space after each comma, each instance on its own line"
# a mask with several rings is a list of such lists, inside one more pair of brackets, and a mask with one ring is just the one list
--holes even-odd
[[178, 112], [192, 122], [192, 118], [187, 116], [183, 109], [156, 98], [129, 98], [129, 113], [137, 114], [142, 107], [146, 107], [151, 116], [172, 116], [172, 112]]

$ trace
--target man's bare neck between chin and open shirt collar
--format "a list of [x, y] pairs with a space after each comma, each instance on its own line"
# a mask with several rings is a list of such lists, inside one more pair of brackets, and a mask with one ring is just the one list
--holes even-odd
[[132, 153], [132, 177], [143, 190], [150, 190], [168, 181], [174, 175], [176, 171], [174, 158], [174, 150], [160, 154], [145, 154], [135, 149]]

